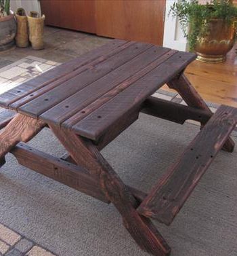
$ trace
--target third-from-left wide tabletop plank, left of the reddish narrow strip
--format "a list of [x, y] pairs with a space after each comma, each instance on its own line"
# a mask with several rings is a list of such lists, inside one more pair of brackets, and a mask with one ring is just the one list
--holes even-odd
[[121, 67], [108, 73], [101, 79], [93, 82], [69, 98], [66, 98], [66, 100], [41, 114], [39, 118], [47, 122], [61, 124], [78, 111], [81, 111], [81, 109], [87, 107], [87, 105], [93, 103], [98, 98], [101, 98], [106, 94], [106, 92], [112, 90], [122, 82], [126, 82], [126, 85], [129, 86], [129, 80], [130, 84], [132, 82], [131, 74], [135, 74], [132, 75], [132, 77], [139, 79], [144, 75], [144, 73], [140, 72], [139, 75], [137, 75], [137, 72], [146, 68], [150, 63], [154, 62], [154, 60], [158, 60], [160, 56], [163, 56], [170, 51], [171, 50], [169, 48], [162, 48], [160, 46], [153, 46], [152, 48], [149, 48], [129, 62], [121, 65]]

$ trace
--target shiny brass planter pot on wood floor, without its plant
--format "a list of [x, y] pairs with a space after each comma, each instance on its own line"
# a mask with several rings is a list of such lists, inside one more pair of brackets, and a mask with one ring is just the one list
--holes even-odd
[[198, 54], [196, 59], [202, 62], [224, 62], [226, 54], [234, 46], [236, 20], [228, 23], [223, 19], [213, 19], [209, 22], [208, 31], [208, 35], [197, 40], [194, 48]]

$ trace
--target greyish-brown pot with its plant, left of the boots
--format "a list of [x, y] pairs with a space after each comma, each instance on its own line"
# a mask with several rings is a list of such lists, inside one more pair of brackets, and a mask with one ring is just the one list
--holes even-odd
[[0, 0], [0, 51], [14, 45], [16, 20], [10, 11], [10, 0]]

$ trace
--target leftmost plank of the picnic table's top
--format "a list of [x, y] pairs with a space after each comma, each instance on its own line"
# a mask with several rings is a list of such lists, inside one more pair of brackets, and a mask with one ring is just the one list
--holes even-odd
[[42, 88], [43, 86], [46, 86], [47, 84], [51, 84], [53, 81], [60, 79], [60, 77], [64, 77], [71, 71], [74, 71], [79, 67], [88, 64], [96, 58], [101, 58], [103, 54], [108, 54], [108, 52], [116, 50], [116, 48], [125, 45], [125, 43], [128, 43], [128, 41], [114, 39], [112, 43], [106, 43], [100, 48], [91, 50], [90, 52], [79, 56], [79, 58], [74, 58], [68, 62], [65, 62], [64, 64], [54, 69], [46, 71], [42, 75], [26, 81], [25, 83], [17, 86], [16, 88], [13, 88], [12, 90], [0, 94], [0, 106], [7, 108], [11, 103], [15, 102], [16, 100], [35, 92], [36, 90]]

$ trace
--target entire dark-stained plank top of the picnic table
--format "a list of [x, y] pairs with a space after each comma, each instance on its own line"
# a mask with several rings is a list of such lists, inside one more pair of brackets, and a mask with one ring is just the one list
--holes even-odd
[[0, 95], [0, 106], [98, 140], [196, 54], [114, 39]]

